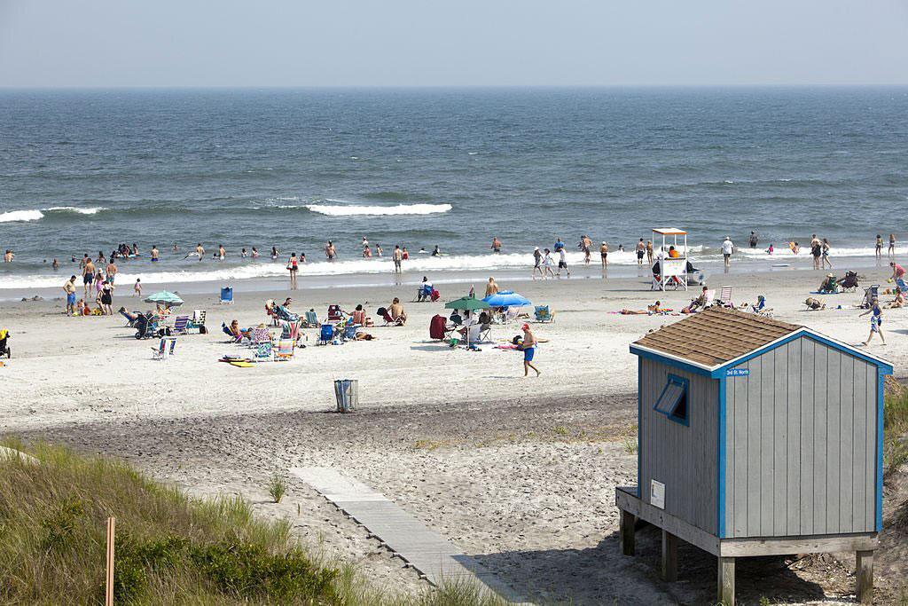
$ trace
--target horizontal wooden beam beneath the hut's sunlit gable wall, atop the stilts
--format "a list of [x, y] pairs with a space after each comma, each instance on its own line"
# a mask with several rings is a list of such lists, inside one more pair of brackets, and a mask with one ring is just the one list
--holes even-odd
[[844, 551], [873, 550], [876, 549], [877, 543], [876, 534], [873, 532], [723, 539], [719, 542], [719, 555], [740, 558], [794, 553], [842, 553]]

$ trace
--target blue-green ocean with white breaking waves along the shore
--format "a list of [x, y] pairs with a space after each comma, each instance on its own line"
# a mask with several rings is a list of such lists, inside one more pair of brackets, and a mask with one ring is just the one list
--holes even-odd
[[[556, 236], [577, 262], [583, 234], [632, 264], [618, 245], [664, 226], [698, 264], [726, 234], [754, 262], [812, 233], [870, 256], [908, 236], [906, 115], [908, 88], [5, 90], [0, 289], [119, 243], [161, 249], [120, 263], [146, 283], [281, 275], [291, 252], [302, 276], [390, 271], [363, 236], [419, 272], [528, 268]], [[226, 260], [183, 259], [196, 243]]]

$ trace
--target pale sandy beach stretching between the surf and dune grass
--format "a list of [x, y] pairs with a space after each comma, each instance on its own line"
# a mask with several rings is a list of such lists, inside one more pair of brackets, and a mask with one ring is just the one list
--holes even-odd
[[[885, 285], [888, 266], [864, 264], [854, 266], [862, 285]], [[52, 299], [57, 295], [40, 293], [42, 301], [0, 308], [14, 353], [0, 368], [0, 432], [123, 457], [194, 494], [241, 493], [263, 515], [291, 517], [305, 540], [358, 561], [377, 584], [418, 591], [423, 581], [301, 482], [291, 482], [281, 505], [265, 502], [273, 472], [341, 467], [475, 554], [532, 601], [708, 603], [715, 560], [686, 546], [681, 581], [657, 581], [658, 535], [641, 532], [637, 556], [624, 558], [614, 507], [615, 486], [636, 478], [637, 360], [628, 344], [682, 317], [617, 312], [642, 310], [656, 299], [680, 310], [698, 288], [654, 293], [645, 274], [603, 279], [598, 268], [579, 274], [499, 280], [502, 289], [557, 313], [554, 323], [532, 324], [547, 342], [537, 355], [542, 375], [526, 379], [518, 353], [494, 348], [518, 334], [519, 323], [495, 325], [495, 343], [480, 345], [479, 352], [429, 339], [430, 317], [445, 313], [444, 301], [465, 294], [465, 283], [439, 283], [439, 303], [410, 303], [410, 284], [289, 292], [235, 283], [236, 303], [224, 306], [214, 288], [185, 293], [183, 309], [207, 310], [210, 333], [179, 337], [168, 363], [153, 361], [154, 343], [135, 340], [120, 315], [64, 317], [62, 303]], [[731, 285], [735, 303], [765, 295], [778, 319], [845, 343], [864, 341], [869, 321], [856, 309], [863, 290], [814, 295], [826, 308], [805, 310], [804, 299], [823, 276], [733, 271], [714, 273], [709, 285]], [[483, 281], [475, 286], [481, 295]], [[114, 309], [147, 307], [123, 291], [131, 292], [122, 285]], [[266, 322], [265, 299], [288, 295], [299, 313], [314, 308], [323, 317], [329, 303], [345, 310], [363, 303], [373, 318], [377, 307], [400, 296], [409, 321], [370, 329], [375, 341], [339, 346], [316, 346], [315, 331], [307, 330], [307, 347], [289, 363], [235, 368], [217, 362], [239, 349], [225, 343], [222, 322]], [[886, 310], [884, 317], [887, 344], [870, 347], [903, 378], [908, 312]], [[355, 414], [328, 413], [336, 378], [359, 380]], [[898, 567], [885, 549], [877, 557], [877, 595], [886, 603], [898, 591], [897, 574], [890, 576]], [[828, 556], [745, 561], [738, 597], [743, 603], [764, 595], [794, 603], [853, 600], [853, 566]]]

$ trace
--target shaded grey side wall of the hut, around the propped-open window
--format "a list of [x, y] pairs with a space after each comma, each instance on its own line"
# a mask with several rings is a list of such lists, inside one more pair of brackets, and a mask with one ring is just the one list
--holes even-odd
[[[690, 382], [688, 425], [653, 410], [669, 374]], [[643, 359], [640, 365], [640, 496], [650, 481], [666, 485], [666, 512], [716, 533], [719, 387], [715, 379]]]

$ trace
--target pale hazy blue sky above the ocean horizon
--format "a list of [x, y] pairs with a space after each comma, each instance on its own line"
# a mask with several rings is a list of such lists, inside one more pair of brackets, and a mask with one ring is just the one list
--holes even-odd
[[908, 84], [908, 0], [0, 0], [0, 86]]

